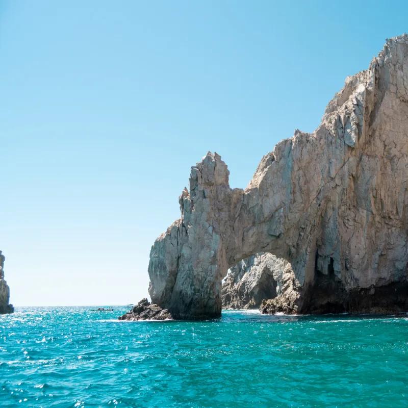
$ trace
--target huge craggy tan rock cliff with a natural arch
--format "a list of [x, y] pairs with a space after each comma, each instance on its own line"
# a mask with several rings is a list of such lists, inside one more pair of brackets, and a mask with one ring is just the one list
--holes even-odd
[[219, 316], [228, 268], [259, 252], [291, 265], [298, 313], [408, 309], [408, 36], [348, 77], [313, 134], [263, 157], [245, 190], [210, 152], [191, 168], [182, 217], [150, 252], [152, 302]]

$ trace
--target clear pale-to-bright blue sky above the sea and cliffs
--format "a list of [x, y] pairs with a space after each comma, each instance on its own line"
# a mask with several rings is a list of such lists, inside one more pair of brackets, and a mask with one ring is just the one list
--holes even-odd
[[407, 31], [405, 2], [1, 1], [0, 249], [15, 305], [125, 304], [191, 165], [232, 187]]

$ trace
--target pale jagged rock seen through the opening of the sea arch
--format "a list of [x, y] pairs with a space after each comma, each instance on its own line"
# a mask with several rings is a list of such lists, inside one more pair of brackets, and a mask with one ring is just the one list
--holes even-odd
[[[258, 309], [264, 299], [284, 294], [297, 298], [291, 264], [268, 252], [245, 258], [231, 268], [222, 285], [223, 309]], [[300, 288], [298, 288], [300, 290]]]

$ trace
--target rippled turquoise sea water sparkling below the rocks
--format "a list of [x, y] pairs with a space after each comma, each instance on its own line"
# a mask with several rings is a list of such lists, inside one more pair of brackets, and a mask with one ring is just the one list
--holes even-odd
[[408, 406], [406, 317], [91, 309], [0, 316], [1, 407]]

